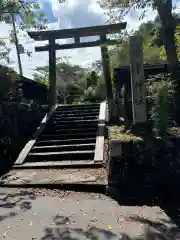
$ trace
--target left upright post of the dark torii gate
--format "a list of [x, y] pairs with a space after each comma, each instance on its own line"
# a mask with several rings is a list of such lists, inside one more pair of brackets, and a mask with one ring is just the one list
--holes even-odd
[[49, 96], [48, 109], [51, 111], [57, 103], [56, 96], [56, 50], [55, 39], [49, 40]]

